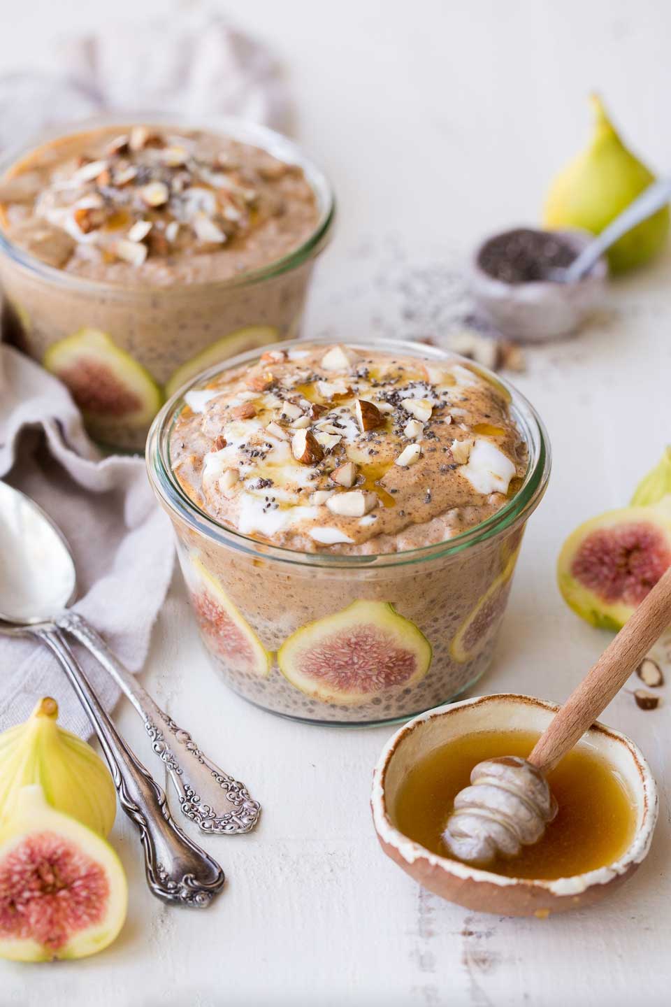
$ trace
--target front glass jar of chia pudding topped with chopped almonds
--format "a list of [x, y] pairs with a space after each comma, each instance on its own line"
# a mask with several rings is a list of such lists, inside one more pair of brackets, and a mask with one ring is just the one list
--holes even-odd
[[549, 446], [523, 396], [463, 357], [292, 341], [174, 396], [147, 464], [224, 682], [362, 725], [487, 670]]

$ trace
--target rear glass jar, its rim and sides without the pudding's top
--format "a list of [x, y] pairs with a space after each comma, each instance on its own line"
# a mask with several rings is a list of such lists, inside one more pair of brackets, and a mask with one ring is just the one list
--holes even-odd
[[[172, 119], [162, 115], [150, 115], [142, 121], [116, 115], [61, 127], [22, 150], [6, 154], [0, 161], [0, 177], [37, 148], [62, 137], [115, 125], [121, 131], [148, 122], [175, 126]], [[282, 259], [232, 279], [128, 287], [48, 266], [13, 244], [0, 230], [2, 337], [43, 363], [49, 348], [67, 336], [103, 333], [105, 359], [101, 361], [100, 354], [97, 358], [93, 341], [83, 342], [89, 356], [85, 354], [83, 366], [69, 381], [70, 390], [92, 436], [125, 450], [144, 448], [156, 410], [195, 372], [246, 349], [300, 334], [315, 259], [328, 243], [335, 214], [325, 176], [280, 134], [226, 118], [189, 122], [183, 128], [231, 137], [299, 165], [313, 189], [319, 214], [308, 240]], [[115, 357], [115, 347], [131, 357], [130, 371], [127, 365], [125, 373], [122, 354]], [[111, 354], [110, 373], [106, 369]], [[117, 367], [115, 358], [121, 361]], [[69, 380], [66, 375], [59, 376], [66, 383]], [[92, 400], [100, 400], [101, 387], [109, 401], [103, 396], [101, 408], [94, 411]], [[146, 400], [147, 408], [136, 409], [133, 419], [124, 422], [119, 403], [132, 402], [134, 395]]]

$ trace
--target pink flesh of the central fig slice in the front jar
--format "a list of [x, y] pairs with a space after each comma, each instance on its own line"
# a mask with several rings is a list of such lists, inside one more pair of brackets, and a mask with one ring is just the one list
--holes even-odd
[[397, 646], [390, 634], [372, 625], [331, 633], [319, 646], [306, 650], [297, 665], [305, 678], [345, 694], [374, 695], [402, 685], [417, 670], [410, 651]]

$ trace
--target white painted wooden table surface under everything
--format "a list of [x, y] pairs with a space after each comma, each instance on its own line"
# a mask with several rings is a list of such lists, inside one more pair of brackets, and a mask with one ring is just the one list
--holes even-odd
[[[548, 177], [586, 137], [584, 97], [595, 85], [632, 140], [660, 169], [671, 167], [661, 98], [671, 85], [671, 9], [655, 0], [222, 6], [290, 67], [300, 136], [339, 193], [310, 331], [355, 337], [372, 325], [402, 335], [402, 299], [384, 293], [394, 250], [408, 271], [434, 268], [444, 249], [466, 252], [483, 232], [534, 222]], [[134, 9], [131, 0], [115, 5], [117, 16]], [[164, 0], [142, 4], [143, 14], [159, 10]], [[48, 65], [56, 29], [109, 16], [109, 5], [90, 0], [12, 5], [3, 64]], [[560, 601], [554, 561], [578, 522], [626, 502], [670, 437], [670, 262], [618, 284], [614, 314], [579, 339], [528, 354], [517, 384], [548, 426], [554, 470], [482, 691], [561, 700], [607, 642]], [[122, 937], [78, 963], [2, 963], [3, 1007], [669, 1002], [671, 693], [654, 713], [624, 694], [604, 717], [643, 747], [661, 784], [660, 823], [639, 873], [596, 908], [511, 920], [441, 901], [381, 855], [368, 790], [391, 729], [293, 724], [228, 693], [206, 664], [178, 580], [144, 681], [248, 782], [265, 807], [261, 826], [210, 840], [228, 885], [198, 913], [149, 895], [136, 835], [121, 817], [113, 841], [131, 883]], [[149, 761], [139, 721], [126, 706], [118, 720]]]

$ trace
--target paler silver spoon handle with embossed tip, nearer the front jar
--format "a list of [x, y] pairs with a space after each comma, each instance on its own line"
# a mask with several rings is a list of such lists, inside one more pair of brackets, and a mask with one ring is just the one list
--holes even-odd
[[[182, 814], [203, 832], [220, 836], [234, 836], [254, 829], [261, 805], [251, 800], [244, 784], [207, 758], [189, 732], [157, 706], [78, 612], [64, 612], [55, 621], [88, 648], [142, 717], [152, 747], [168, 769]], [[164, 730], [169, 732], [174, 748], [166, 741]]]

